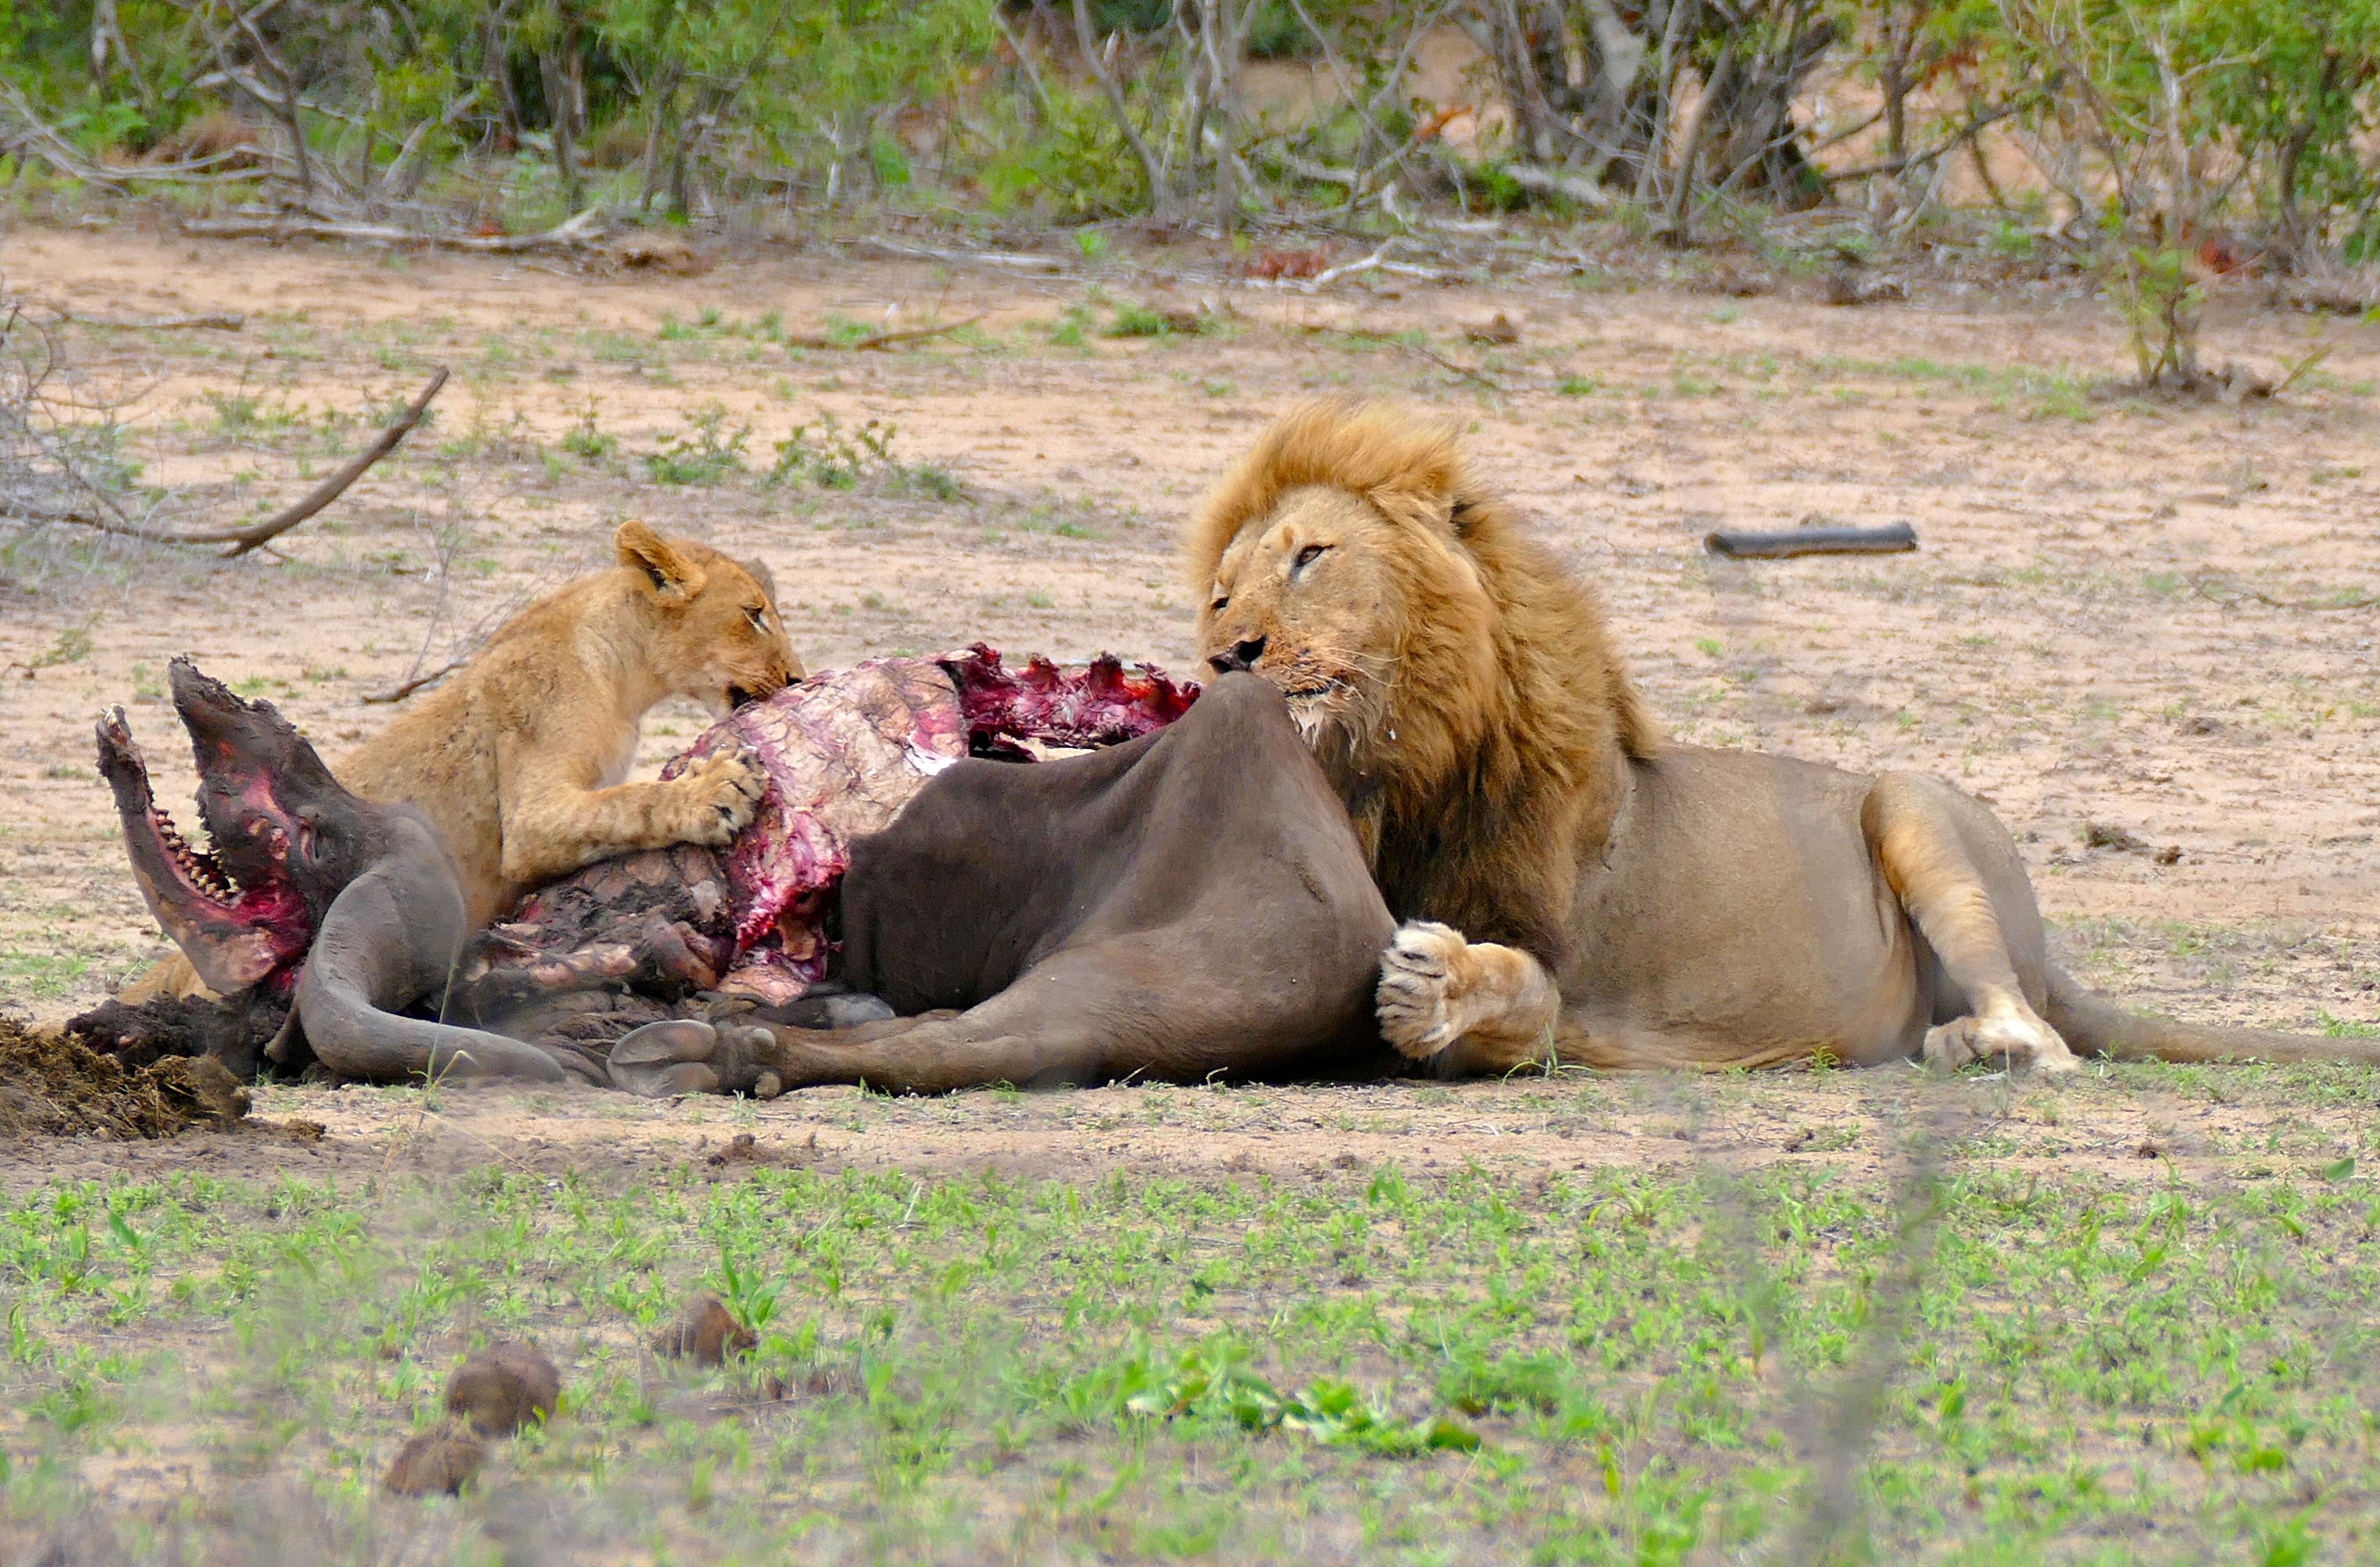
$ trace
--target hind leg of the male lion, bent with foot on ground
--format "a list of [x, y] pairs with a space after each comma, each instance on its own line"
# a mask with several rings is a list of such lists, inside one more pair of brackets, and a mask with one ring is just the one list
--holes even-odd
[[2073, 1050], [2037, 1010], [2047, 1000], [2040, 912], [2006, 829], [1973, 798], [1911, 772], [1875, 781], [1861, 829], [1964, 1003], [1959, 1017], [1925, 1031], [1928, 1065], [1999, 1057], [2016, 1069], [2073, 1072]]

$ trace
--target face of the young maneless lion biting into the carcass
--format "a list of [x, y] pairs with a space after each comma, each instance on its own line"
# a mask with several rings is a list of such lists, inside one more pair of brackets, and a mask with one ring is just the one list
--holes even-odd
[[802, 679], [766, 567], [662, 538], [640, 522], [624, 524], [616, 545], [621, 564], [643, 574], [643, 591], [659, 610], [652, 667], [674, 695], [726, 717]]

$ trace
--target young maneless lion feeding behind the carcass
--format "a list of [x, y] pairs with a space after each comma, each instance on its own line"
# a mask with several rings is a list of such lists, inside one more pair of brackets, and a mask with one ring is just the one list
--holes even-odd
[[[595, 860], [728, 843], [766, 788], [743, 753], [714, 753], [669, 781], [621, 781], [664, 695], [726, 717], [800, 679], [802, 664], [759, 562], [643, 522], [621, 524], [612, 543], [614, 569], [514, 614], [445, 686], [333, 764], [367, 800], [421, 807], [462, 872], [471, 929]], [[121, 1000], [195, 984], [176, 955]]]

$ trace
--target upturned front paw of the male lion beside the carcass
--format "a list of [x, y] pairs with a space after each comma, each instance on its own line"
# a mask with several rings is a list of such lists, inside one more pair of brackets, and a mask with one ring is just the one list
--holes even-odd
[[1380, 1036], [1414, 1060], [1454, 1050], [1461, 1072], [1549, 1062], [1561, 991], [1521, 948], [1409, 919], [1380, 955]]

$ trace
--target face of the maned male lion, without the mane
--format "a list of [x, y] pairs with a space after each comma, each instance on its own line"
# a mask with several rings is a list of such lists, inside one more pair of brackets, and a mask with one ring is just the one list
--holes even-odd
[[1364, 500], [1295, 488], [1216, 562], [1200, 655], [1216, 674], [1254, 669], [1278, 686], [1307, 743], [1354, 748], [1404, 648], [1409, 583], [1397, 557], [1397, 524]]

